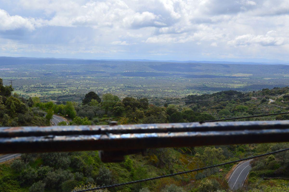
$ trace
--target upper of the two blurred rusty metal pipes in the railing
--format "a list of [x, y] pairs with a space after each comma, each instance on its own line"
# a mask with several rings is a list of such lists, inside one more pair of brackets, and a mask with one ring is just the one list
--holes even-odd
[[238, 131], [262, 129], [286, 129], [289, 121], [238, 121], [207, 123], [169, 123], [135, 125], [95, 126], [47, 126], [47, 127], [1, 127], [0, 138], [29, 136], [104, 135], [131, 133], [177, 133], [203, 131]]

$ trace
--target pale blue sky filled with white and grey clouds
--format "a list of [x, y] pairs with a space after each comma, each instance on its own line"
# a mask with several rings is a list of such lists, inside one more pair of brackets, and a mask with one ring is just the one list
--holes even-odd
[[0, 56], [289, 61], [288, 0], [0, 0]]

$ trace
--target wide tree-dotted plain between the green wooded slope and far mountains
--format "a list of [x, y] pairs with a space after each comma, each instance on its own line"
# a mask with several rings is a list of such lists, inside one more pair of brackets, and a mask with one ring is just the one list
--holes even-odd
[[287, 65], [91, 61], [55, 64], [0, 63], [5, 84], [16, 93], [42, 99], [79, 101], [84, 94], [111, 92], [120, 97], [182, 97], [222, 90], [253, 91], [288, 85]]

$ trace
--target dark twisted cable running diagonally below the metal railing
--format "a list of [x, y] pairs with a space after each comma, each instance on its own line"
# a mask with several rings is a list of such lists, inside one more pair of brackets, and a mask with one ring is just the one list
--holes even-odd
[[271, 154], [276, 154], [276, 153], [280, 153], [280, 152], [284, 152], [284, 151], [288, 151], [288, 150], [289, 150], [289, 148], [286, 148], [286, 149], [281, 149], [281, 150], [278, 150], [278, 151], [273, 151], [273, 152], [269, 152], [269, 153], [265, 153], [265, 154], [261, 154], [261, 155], [247, 157], [247, 158], [244, 158], [244, 159], [238, 159], [238, 160], [235, 160], [235, 161], [229, 161], [229, 162], [221, 163], [221, 164], [217, 164], [217, 165], [211, 165], [211, 166], [201, 167], [201, 168], [192, 169], [192, 170], [188, 170], [188, 171], [183, 171], [183, 172], [178, 172], [178, 173], [173, 173], [173, 174], [168, 174], [168, 175], [162, 175], [162, 176], [158, 176], [158, 177], [146, 178], [146, 179], [141, 179], [141, 180], [135, 180], [135, 181], [125, 182], [125, 183], [118, 183], [118, 184], [106, 185], [106, 186], [102, 186], [102, 187], [83, 189], [83, 190], [78, 190], [78, 191], [74, 191], [74, 192], [93, 191], [93, 190], [97, 190], [97, 189], [119, 187], [119, 186], [128, 185], [128, 184], [134, 184], [134, 183], [145, 182], [145, 181], [150, 181], [150, 180], [155, 180], [155, 179], [161, 179], [161, 178], [165, 178], [165, 177], [171, 177], [171, 176], [176, 176], [176, 175], [181, 175], [181, 174], [201, 171], [201, 170], [204, 170], [204, 169], [210, 169], [210, 168], [213, 168], [213, 167], [219, 167], [219, 166], [223, 166], [223, 165], [228, 165], [228, 164], [231, 164], [231, 163], [237, 163], [239, 161], [245, 161], [245, 160], [248, 160], [248, 159], [255, 159], [255, 158], [258, 158], [258, 157], [267, 156], [267, 155], [271, 155]]

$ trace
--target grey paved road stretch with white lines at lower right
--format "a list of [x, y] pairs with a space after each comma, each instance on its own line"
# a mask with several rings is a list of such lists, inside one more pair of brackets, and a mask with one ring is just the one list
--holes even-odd
[[242, 161], [239, 163], [231, 174], [228, 184], [233, 191], [243, 186], [244, 181], [251, 170], [250, 161], [251, 160]]

